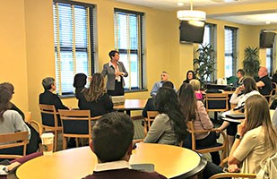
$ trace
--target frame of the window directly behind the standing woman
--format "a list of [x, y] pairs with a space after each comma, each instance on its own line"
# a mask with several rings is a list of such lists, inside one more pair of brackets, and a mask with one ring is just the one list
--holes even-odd
[[[116, 43], [116, 13], [127, 13], [127, 14], [134, 14], [136, 16], [139, 16], [137, 17], [138, 20], [139, 20], [139, 32], [138, 32], [138, 38], [139, 38], [139, 46], [137, 49], [123, 49], [123, 48], [118, 48], [117, 47], [117, 43]], [[131, 84], [130, 84], [130, 87], [129, 88], [125, 88], [125, 91], [126, 92], [134, 92], [134, 91], [143, 91], [143, 90], [146, 90], [145, 89], [145, 70], [144, 70], [144, 59], [145, 59], [145, 53], [144, 53], [144, 50], [145, 50], [145, 44], [144, 44], [144, 13], [141, 13], [141, 12], [136, 12], [136, 11], [131, 11], [131, 10], [126, 10], [126, 9], [121, 9], [121, 8], [114, 8], [114, 34], [115, 34], [115, 49], [118, 50], [119, 54], [126, 54], [126, 55], [132, 55], [132, 54], [137, 54], [138, 55], [138, 60], [140, 61], [139, 62], [139, 71], [138, 71], [138, 75], [139, 75], [139, 80], [138, 80], [138, 87], [134, 87], [132, 88], [131, 87]], [[129, 39], [128, 39], [129, 40]], [[130, 41], [130, 40], [129, 40]], [[130, 53], [128, 53], [128, 51], [130, 51]], [[137, 52], [137, 53], [134, 53], [134, 52]], [[130, 59], [128, 59], [128, 62], [129, 62]], [[131, 68], [131, 66], [129, 67]], [[129, 73], [129, 78], [131, 78], [131, 69], [126, 69], [127, 72]]]

